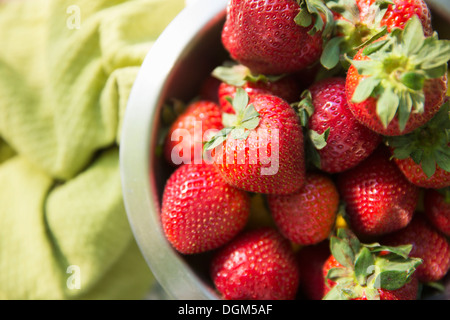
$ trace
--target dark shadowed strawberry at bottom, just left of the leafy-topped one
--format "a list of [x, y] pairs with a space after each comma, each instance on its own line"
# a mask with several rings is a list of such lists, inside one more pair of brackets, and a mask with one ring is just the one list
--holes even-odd
[[299, 291], [308, 300], [322, 300], [328, 292], [323, 276], [325, 261], [330, 256], [328, 240], [316, 245], [304, 246], [296, 253], [300, 274]]

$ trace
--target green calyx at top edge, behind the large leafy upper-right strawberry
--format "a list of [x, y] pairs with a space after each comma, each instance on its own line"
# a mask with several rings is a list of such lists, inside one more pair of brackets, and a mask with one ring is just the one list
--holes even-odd
[[375, 1], [370, 6], [364, 21], [361, 21], [355, 0], [327, 2], [330, 10], [340, 14], [344, 19], [335, 21], [333, 34], [326, 42], [320, 58], [322, 66], [328, 70], [339, 66], [348, 69], [349, 65], [345, 56], [353, 57], [360, 48], [387, 33], [387, 28], [381, 25], [381, 20], [390, 4], [393, 4], [391, 0]]

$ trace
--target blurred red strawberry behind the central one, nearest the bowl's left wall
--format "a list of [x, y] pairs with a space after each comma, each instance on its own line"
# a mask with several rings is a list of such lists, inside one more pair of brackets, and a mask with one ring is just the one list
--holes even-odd
[[203, 142], [211, 138], [213, 130], [222, 128], [222, 113], [216, 103], [192, 102], [169, 128], [164, 143], [165, 159], [173, 165], [202, 162]]

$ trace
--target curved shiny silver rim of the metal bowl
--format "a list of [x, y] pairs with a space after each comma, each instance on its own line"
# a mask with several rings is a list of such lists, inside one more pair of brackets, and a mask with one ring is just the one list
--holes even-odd
[[199, 0], [180, 11], [144, 58], [124, 114], [119, 167], [126, 214], [144, 259], [171, 299], [219, 298], [164, 235], [159, 220], [158, 189], [149, 170], [154, 164], [150, 150], [156, 147], [157, 139], [150, 137], [157, 134], [157, 108], [161, 106], [162, 92], [173, 66], [206, 25], [225, 16], [227, 3], [228, 0]]

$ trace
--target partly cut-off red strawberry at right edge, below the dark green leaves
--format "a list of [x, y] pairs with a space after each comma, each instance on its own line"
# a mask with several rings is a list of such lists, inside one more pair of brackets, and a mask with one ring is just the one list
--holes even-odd
[[450, 237], [450, 188], [425, 190], [423, 202], [425, 214], [431, 224]]

